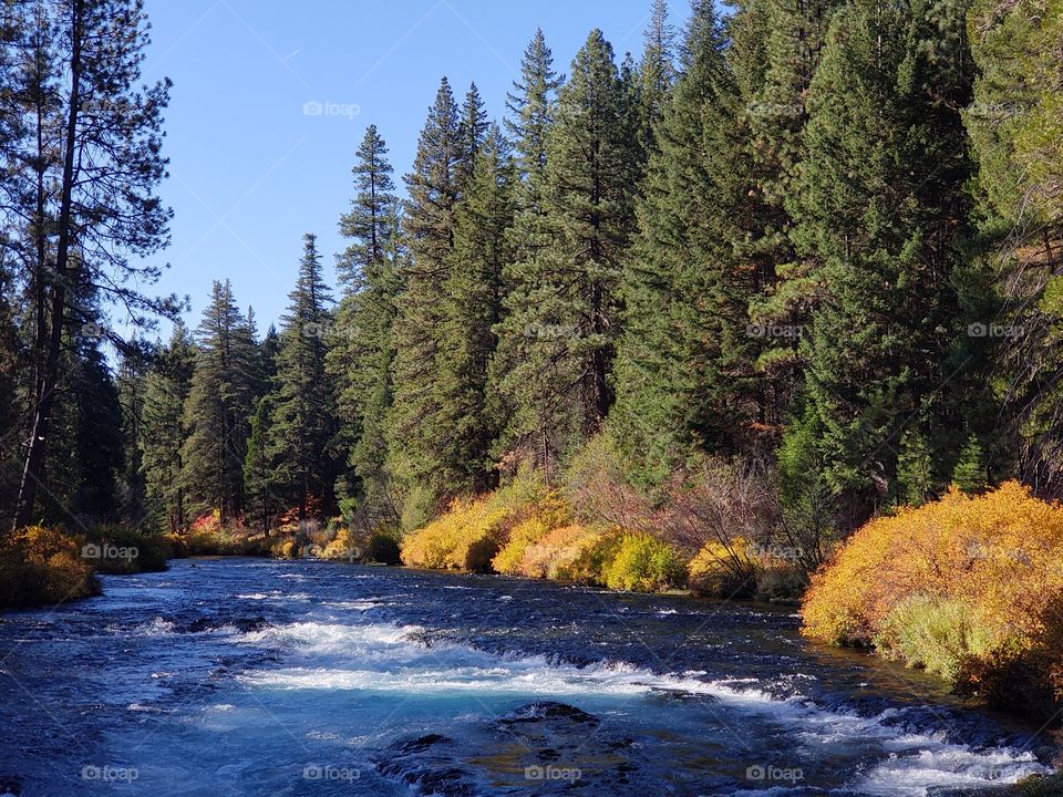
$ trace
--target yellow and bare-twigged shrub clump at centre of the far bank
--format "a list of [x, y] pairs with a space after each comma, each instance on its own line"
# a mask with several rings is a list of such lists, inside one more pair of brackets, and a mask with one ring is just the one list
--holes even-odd
[[407, 532], [402, 561], [640, 592], [799, 598], [805, 551], [775, 522], [763, 474], [705, 459], [669, 489], [646, 496], [619, 470], [605, 441], [556, 484], [522, 470]]

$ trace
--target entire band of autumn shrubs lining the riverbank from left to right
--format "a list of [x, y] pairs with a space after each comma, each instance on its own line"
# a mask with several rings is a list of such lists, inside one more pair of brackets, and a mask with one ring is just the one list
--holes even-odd
[[[31, 527], [0, 550], [0, 605], [99, 592], [96, 572], [163, 569], [171, 556], [317, 557], [497, 572], [660, 592], [798, 600], [803, 633], [922, 667], [960, 694], [1049, 714], [1063, 694], [1063, 508], [1018, 483], [873, 519], [823, 563], [781, 528], [761, 476], [706, 460], [646, 498], [607, 449], [547, 484], [522, 470], [406, 534], [289, 520], [269, 534], [215, 516], [179, 536]], [[806, 573], [813, 571], [811, 588]]]

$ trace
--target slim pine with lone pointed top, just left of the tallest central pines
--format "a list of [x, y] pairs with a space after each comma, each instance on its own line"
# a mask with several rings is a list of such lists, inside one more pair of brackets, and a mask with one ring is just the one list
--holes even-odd
[[357, 190], [340, 232], [351, 244], [339, 258], [344, 294], [326, 358], [334, 384], [341, 456], [337, 480], [345, 515], [363, 508], [376, 519], [393, 518], [388, 500], [384, 416], [391, 406], [392, 327], [399, 293], [399, 219], [388, 147], [370, 125], [353, 168]]

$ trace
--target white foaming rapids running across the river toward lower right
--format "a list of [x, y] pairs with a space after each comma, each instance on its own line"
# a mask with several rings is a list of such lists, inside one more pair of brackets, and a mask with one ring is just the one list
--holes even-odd
[[[430, 644], [425, 644], [427, 638]], [[875, 745], [881, 760], [855, 777], [852, 788], [859, 794], [921, 797], [932, 787], [1013, 784], [1050, 772], [1028, 751], [976, 747], [939, 729], [912, 732], [899, 716], [904, 707], [873, 716], [847, 707], [826, 710], [795, 690], [794, 682], [812, 676], [762, 683], [706, 679], [702, 671], [658, 674], [623, 661], [576, 665], [541, 655], [489, 653], [430, 636], [419, 625], [370, 622], [299, 622], [249, 632], [241, 639], [289, 651], [288, 666], [241, 676], [252, 687], [269, 690], [568, 700], [615, 695], [625, 701], [662, 693], [702, 696], [740, 717], [755, 715], [784, 729], [809, 755], [854, 739]], [[764, 793], [781, 794], [777, 788]]]

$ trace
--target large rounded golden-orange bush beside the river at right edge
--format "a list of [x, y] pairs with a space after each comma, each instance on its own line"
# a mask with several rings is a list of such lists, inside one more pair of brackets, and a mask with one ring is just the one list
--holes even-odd
[[813, 577], [803, 633], [874, 646], [961, 692], [1060, 694], [1061, 605], [1063, 507], [1009, 482], [868, 522]]

